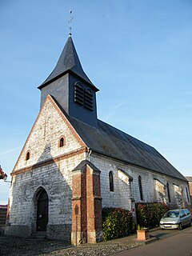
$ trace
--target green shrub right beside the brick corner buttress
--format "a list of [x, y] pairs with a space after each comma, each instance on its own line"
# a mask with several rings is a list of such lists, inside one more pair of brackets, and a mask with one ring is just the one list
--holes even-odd
[[121, 208], [102, 209], [102, 238], [108, 241], [134, 233], [134, 222], [129, 210]]

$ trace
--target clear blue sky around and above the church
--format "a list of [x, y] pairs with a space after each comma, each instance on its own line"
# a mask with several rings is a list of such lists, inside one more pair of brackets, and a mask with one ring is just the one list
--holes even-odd
[[[100, 89], [98, 118], [192, 175], [190, 0], [1, 0], [2, 169], [13, 170], [38, 115], [37, 87], [66, 43], [70, 10], [78, 56]], [[0, 181], [0, 204], [8, 190]]]

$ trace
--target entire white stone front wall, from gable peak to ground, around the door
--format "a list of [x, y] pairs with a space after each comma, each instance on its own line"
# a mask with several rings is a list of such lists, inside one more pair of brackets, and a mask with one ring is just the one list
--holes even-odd
[[[66, 145], [58, 147], [62, 135], [66, 138]], [[66, 227], [70, 229], [72, 170], [86, 158], [83, 151], [70, 153], [81, 147], [82, 142], [74, 130], [48, 98], [14, 168], [18, 174], [13, 176], [10, 186], [10, 226], [6, 234], [29, 236], [36, 231], [36, 195], [41, 188], [46, 190], [49, 198], [50, 238], [59, 229], [60, 234], [65, 233]], [[26, 161], [28, 150], [30, 159]]]

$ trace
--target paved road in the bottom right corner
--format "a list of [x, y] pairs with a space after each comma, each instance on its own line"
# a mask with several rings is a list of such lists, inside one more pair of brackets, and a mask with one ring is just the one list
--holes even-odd
[[192, 229], [182, 230], [170, 238], [123, 251], [115, 256], [192, 256]]

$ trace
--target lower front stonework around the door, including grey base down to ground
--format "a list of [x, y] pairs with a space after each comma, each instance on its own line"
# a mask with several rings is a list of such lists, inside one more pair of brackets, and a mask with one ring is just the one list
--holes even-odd
[[[36, 211], [35, 197], [41, 188], [45, 189], [49, 196], [49, 222], [48, 233], [49, 238], [62, 239], [66, 230], [71, 226], [71, 170], [81, 161], [81, 156], [71, 158], [70, 170], [66, 169], [66, 162], [59, 162], [60, 169], [55, 168], [55, 163], [47, 166], [47, 169], [33, 170], [31, 177], [30, 172], [18, 174], [13, 182], [12, 194], [10, 197], [10, 227], [6, 230], [6, 234], [11, 234], [15, 231], [10, 231], [13, 227], [18, 234], [32, 234], [36, 229]], [[57, 166], [57, 165], [56, 165]], [[50, 171], [52, 169], [52, 171]], [[49, 175], [46, 175], [46, 174]], [[19, 176], [25, 176], [20, 178]], [[17, 196], [15, 196], [17, 194]], [[31, 202], [34, 202], [31, 204]], [[20, 214], [17, 214], [17, 213]], [[14, 225], [20, 225], [14, 227]], [[23, 226], [28, 226], [27, 232], [23, 232]], [[25, 228], [26, 229], [26, 228]], [[53, 234], [51, 232], [53, 231]], [[24, 235], [24, 236], [25, 236]], [[29, 236], [28, 235], [28, 236]], [[69, 235], [70, 238], [70, 235]], [[69, 240], [69, 239], [68, 239]]]

